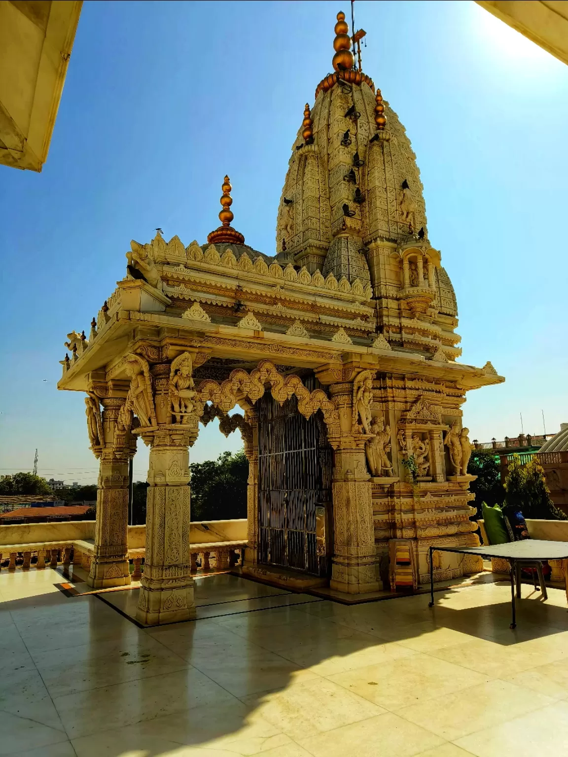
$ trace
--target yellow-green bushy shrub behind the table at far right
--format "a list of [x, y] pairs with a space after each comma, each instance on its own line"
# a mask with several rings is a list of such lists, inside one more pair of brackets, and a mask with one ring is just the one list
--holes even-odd
[[546, 484], [545, 472], [533, 457], [523, 466], [518, 455], [513, 455], [505, 478], [505, 503], [517, 508], [525, 518], [566, 520], [554, 505]]

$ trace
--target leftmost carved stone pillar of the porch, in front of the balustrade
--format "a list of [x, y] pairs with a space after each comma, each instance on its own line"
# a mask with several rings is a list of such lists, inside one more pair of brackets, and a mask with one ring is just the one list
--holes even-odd
[[117, 429], [123, 397], [101, 400], [104, 446], [100, 447], [95, 547], [87, 584], [95, 589], [130, 584], [128, 563], [128, 468], [136, 452], [130, 433]]

